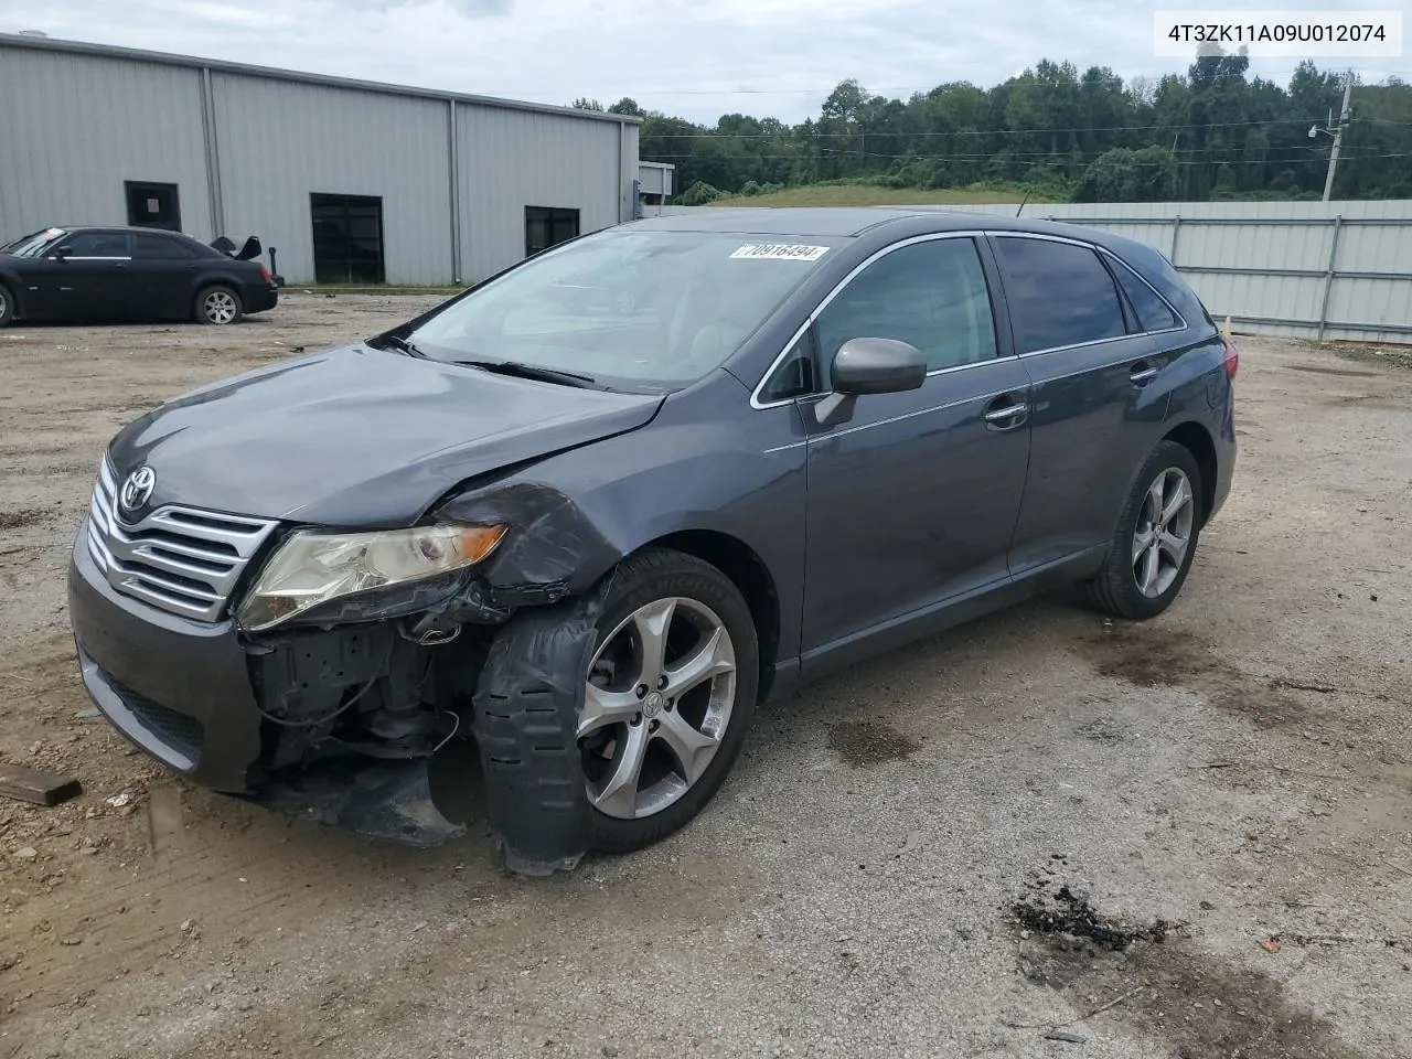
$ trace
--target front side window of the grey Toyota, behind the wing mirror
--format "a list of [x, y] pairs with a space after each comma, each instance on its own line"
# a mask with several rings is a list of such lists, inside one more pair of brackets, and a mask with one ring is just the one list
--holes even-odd
[[819, 363], [849, 339], [899, 339], [929, 371], [995, 356], [995, 321], [971, 239], [933, 239], [884, 254], [858, 273], [815, 321]]

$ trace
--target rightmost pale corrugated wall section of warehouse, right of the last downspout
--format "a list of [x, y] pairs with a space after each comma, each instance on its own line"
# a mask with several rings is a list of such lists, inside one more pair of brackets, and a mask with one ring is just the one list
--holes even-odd
[[456, 134], [462, 277], [470, 282], [525, 256], [525, 206], [576, 209], [580, 233], [631, 216], [623, 209], [637, 176], [637, 126], [457, 106]]

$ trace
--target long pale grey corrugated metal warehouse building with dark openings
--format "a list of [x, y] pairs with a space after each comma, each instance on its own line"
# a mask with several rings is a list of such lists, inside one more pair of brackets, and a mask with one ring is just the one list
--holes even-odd
[[289, 281], [474, 282], [637, 210], [635, 117], [0, 34], [0, 241], [258, 236]]

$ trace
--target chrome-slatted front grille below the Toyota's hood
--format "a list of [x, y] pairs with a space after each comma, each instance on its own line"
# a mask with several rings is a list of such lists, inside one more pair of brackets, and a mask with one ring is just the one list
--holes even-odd
[[99, 467], [89, 505], [93, 562], [119, 592], [154, 607], [216, 621], [275, 522], [167, 505], [131, 525], [117, 514], [117, 476]]

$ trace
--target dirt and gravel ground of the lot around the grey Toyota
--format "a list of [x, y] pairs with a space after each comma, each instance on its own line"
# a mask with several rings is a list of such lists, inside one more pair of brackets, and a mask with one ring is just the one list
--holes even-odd
[[[722, 795], [525, 881], [171, 778], [64, 568], [120, 424], [424, 298], [0, 332], [0, 1059], [1412, 1055], [1412, 371], [1244, 339], [1178, 604], [1039, 600], [770, 707]], [[1062, 891], [1062, 892], [1060, 892]]]

